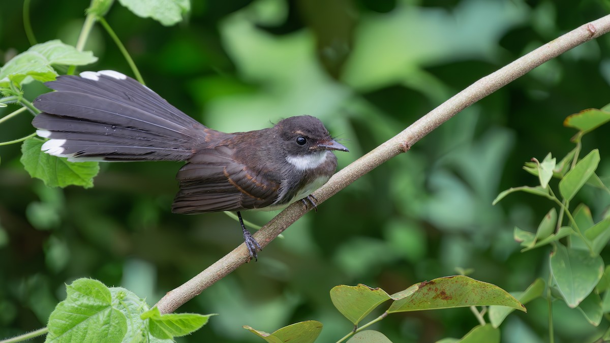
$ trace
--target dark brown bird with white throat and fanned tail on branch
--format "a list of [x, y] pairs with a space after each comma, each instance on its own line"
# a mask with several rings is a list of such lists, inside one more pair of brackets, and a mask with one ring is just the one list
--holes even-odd
[[41, 150], [71, 162], [182, 161], [176, 214], [237, 212], [249, 259], [259, 243], [242, 211], [282, 209], [295, 201], [317, 210], [311, 193], [337, 168], [333, 151], [349, 151], [310, 115], [270, 128], [226, 133], [204, 126], [150, 88], [118, 71], [84, 71], [45, 85], [32, 125]]

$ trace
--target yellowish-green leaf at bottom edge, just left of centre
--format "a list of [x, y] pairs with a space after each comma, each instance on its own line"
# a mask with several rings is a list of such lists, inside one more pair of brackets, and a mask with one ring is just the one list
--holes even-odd
[[248, 325], [244, 325], [243, 328], [270, 343], [312, 343], [320, 335], [322, 323], [317, 322], [316, 320], [307, 320], [306, 322], [288, 325], [274, 333], [254, 330], [254, 328], [249, 327]]

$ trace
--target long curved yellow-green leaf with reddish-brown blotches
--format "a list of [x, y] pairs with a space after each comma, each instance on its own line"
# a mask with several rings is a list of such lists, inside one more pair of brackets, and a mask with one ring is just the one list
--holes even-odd
[[463, 306], [510, 306], [525, 312], [525, 307], [498, 286], [468, 276], [447, 276], [409, 287], [411, 294], [392, 303], [388, 313]]

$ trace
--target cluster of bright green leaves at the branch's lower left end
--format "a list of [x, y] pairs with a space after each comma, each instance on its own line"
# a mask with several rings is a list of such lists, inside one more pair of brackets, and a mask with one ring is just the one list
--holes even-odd
[[68, 297], [49, 317], [45, 342], [172, 342], [199, 330], [212, 315], [159, 314], [121, 287], [91, 279], [66, 286]]

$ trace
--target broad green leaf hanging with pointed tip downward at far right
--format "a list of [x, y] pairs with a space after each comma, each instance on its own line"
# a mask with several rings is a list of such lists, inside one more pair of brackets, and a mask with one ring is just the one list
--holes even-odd
[[604, 272], [604, 261], [589, 251], [556, 244], [550, 258], [551, 274], [570, 308], [575, 308], [597, 285]]

